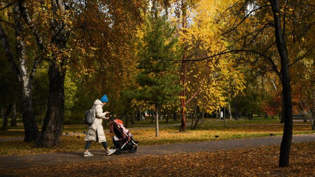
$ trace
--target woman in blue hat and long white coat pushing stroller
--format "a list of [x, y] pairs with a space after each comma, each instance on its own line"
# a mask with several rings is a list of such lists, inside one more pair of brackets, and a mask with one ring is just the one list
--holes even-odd
[[102, 143], [103, 147], [107, 150], [107, 155], [114, 153], [116, 149], [110, 149], [106, 143], [106, 137], [104, 133], [104, 129], [102, 126], [103, 119], [108, 120], [108, 117], [105, 117], [109, 112], [103, 113], [103, 106], [108, 102], [108, 98], [106, 95], [101, 97], [101, 99], [96, 99], [94, 101], [94, 111], [95, 111], [95, 119], [93, 124], [89, 127], [89, 129], [85, 133], [85, 152], [84, 157], [93, 156], [91, 152], [89, 152], [89, 148], [92, 142]]

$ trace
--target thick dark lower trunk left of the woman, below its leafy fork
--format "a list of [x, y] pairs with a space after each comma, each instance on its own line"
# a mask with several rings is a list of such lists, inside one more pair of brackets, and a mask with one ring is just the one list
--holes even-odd
[[47, 113], [42, 127], [41, 135], [36, 142], [36, 147], [54, 147], [60, 145], [63, 133], [64, 119], [64, 77], [66, 71], [60, 69], [55, 62], [50, 62], [49, 97]]

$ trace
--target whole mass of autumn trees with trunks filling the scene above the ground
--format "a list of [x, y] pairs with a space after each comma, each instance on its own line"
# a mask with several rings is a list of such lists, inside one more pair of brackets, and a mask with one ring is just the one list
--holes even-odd
[[288, 166], [293, 113], [315, 110], [314, 13], [308, 0], [2, 0], [1, 108], [20, 107], [36, 147], [59, 146], [103, 94], [126, 120], [179, 113], [184, 132], [187, 113], [281, 115]]

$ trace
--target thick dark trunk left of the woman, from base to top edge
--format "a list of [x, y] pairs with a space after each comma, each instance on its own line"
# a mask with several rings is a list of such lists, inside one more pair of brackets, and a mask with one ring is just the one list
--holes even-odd
[[[52, 13], [64, 11], [62, 0], [52, 0]], [[63, 20], [66, 20], [64, 17]], [[62, 20], [54, 19], [50, 22], [53, 33], [51, 42], [58, 51], [66, 48], [67, 38], [70, 35], [69, 28]], [[58, 64], [57, 64], [58, 61]], [[61, 53], [54, 53], [48, 69], [49, 97], [47, 113], [42, 127], [41, 135], [36, 142], [36, 147], [53, 147], [60, 145], [60, 137], [63, 133], [64, 119], [64, 78], [66, 74], [67, 59]]]

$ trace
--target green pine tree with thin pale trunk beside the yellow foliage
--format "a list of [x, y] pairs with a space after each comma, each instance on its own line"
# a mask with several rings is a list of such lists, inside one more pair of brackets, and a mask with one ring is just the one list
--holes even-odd
[[140, 88], [137, 97], [156, 107], [156, 136], [158, 136], [158, 110], [162, 105], [178, 99], [181, 87], [175, 81], [177, 65], [172, 62], [180, 51], [174, 28], [162, 16], [149, 17], [139, 44]]

